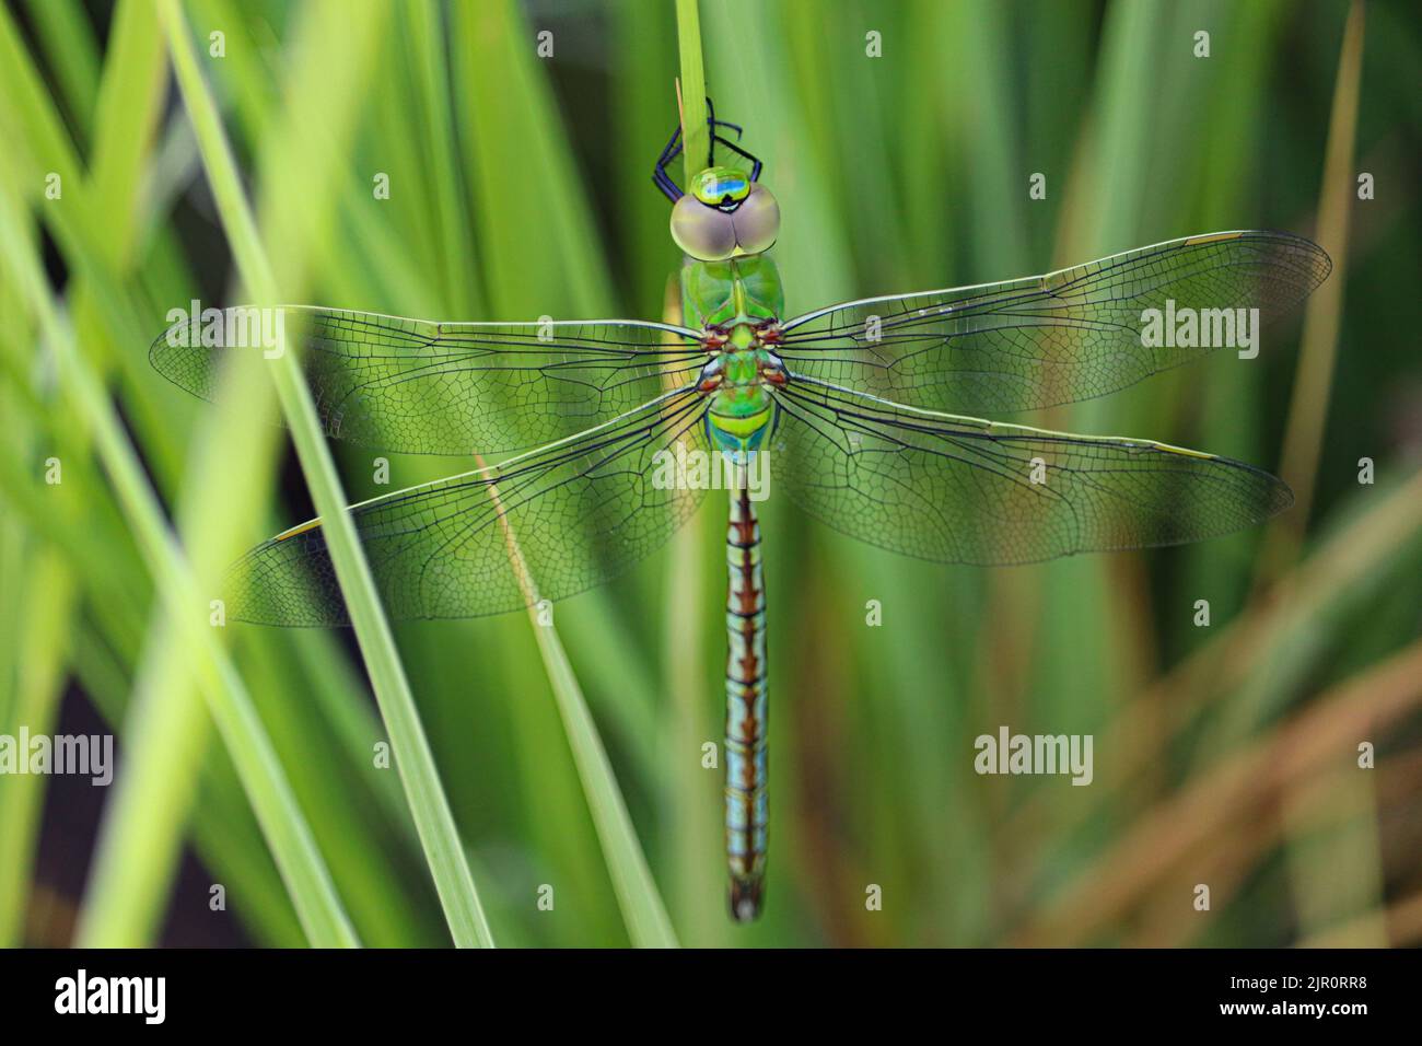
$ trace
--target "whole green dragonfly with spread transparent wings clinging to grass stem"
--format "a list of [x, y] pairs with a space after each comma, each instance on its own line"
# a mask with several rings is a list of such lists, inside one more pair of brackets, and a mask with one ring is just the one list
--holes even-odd
[[[1231, 340], [1226, 327], [1239, 340], [1251, 316], [1295, 305], [1331, 262], [1294, 235], [1214, 232], [786, 317], [768, 253], [779, 205], [742, 130], [710, 100], [708, 112], [707, 165], [687, 189], [667, 171], [680, 125], [653, 172], [683, 253], [680, 323], [283, 309], [328, 437], [478, 455], [478, 468], [350, 507], [392, 618], [502, 613], [602, 585], [702, 502], [710, 484], [657, 481], [668, 454], [729, 464], [725, 852], [731, 916], [744, 922], [762, 911], [769, 821], [752, 470], [768, 464], [774, 490], [843, 534], [943, 564], [1034, 564], [1258, 524], [1293, 494], [1253, 465], [981, 416], [1105, 396], [1199, 360]], [[181, 327], [151, 361], [210, 398], [237, 349]], [[321, 519], [253, 548], [226, 591], [239, 620], [348, 625]]]

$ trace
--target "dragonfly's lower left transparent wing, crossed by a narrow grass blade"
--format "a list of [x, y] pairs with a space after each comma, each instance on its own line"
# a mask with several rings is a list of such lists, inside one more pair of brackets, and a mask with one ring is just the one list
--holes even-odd
[[[387, 613], [501, 613], [631, 566], [700, 504], [704, 491], [658, 485], [656, 470], [657, 453], [678, 441], [705, 450], [705, 403], [695, 390], [671, 393], [562, 444], [353, 507]], [[247, 552], [226, 592], [239, 620], [348, 623], [320, 521]]]

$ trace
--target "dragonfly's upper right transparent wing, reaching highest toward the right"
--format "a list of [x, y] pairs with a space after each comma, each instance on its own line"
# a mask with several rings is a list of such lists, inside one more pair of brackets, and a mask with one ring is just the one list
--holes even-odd
[[[926, 410], [1035, 410], [1105, 396], [1217, 347], [1146, 347], [1146, 309], [1257, 307], [1268, 319], [1331, 268], [1321, 248], [1287, 233], [1190, 236], [1010, 283], [820, 309], [784, 324], [781, 356], [792, 373]], [[1212, 337], [1223, 330], [1210, 323]]]

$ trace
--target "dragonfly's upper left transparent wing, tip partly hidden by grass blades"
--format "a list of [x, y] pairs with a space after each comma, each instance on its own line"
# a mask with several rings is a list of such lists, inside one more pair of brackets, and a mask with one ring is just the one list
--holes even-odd
[[[408, 454], [492, 454], [560, 440], [688, 384], [705, 361], [695, 332], [667, 323], [280, 310], [290, 330], [303, 332], [301, 364], [326, 434]], [[225, 366], [262, 360], [257, 349], [203, 346], [193, 333], [188, 320], [173, 324], [149, 360], [202, 398], [213, 397]]]

